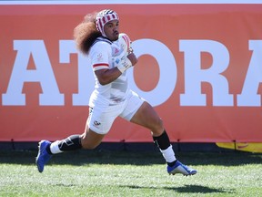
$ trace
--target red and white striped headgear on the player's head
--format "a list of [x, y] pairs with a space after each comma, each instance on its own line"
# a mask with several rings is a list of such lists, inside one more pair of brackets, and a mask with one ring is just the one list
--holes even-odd
[[104, 26], [112, 20], [119, 20], [119, 17], [115, 11], [110, 9], [102, 10], [96, 15], [96, 28], [102, 36], [106, 36]]

